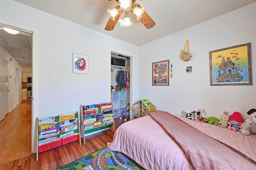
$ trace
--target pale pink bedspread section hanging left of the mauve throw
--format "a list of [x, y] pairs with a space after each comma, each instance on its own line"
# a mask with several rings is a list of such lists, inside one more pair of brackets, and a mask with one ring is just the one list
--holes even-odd
[[120, 125], [107, 145], [146, 170], [192, 169], [180, 147], [149, 115]]

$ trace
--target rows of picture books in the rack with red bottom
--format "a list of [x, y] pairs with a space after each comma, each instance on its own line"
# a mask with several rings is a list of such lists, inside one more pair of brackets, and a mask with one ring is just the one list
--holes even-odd
[[38, 120], [38, 146], [78, 134], [77, 113]]

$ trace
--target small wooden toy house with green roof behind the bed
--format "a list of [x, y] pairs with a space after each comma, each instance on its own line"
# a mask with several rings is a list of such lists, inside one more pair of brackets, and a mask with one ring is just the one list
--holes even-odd
[[132, 116], [134, 119], [148, 115], [149, 112], [156, 111], [156, 105], [154, 105], [148, 99], [142, 99], [132, 105]]

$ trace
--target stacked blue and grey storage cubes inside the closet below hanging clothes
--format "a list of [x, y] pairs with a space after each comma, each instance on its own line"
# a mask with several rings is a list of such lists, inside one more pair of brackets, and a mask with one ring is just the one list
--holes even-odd
[[111, 92], [114, 118], [122, 117], [126, 112], [126, 91]]

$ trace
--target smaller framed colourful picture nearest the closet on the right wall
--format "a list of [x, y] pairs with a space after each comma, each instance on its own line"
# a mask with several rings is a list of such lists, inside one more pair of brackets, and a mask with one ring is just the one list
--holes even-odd
[[169, 85], [169, 60], [152, 63], [152, 85]]

